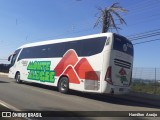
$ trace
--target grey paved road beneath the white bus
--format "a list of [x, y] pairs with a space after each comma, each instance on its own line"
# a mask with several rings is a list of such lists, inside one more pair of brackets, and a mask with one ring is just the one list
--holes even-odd
[[[160, 111], [150, 106], [111, 96], [71, 91], [61, 94], [54, 87], [23, 83], [0, 75], [0, 100], [19, 110], [38, 111]], [[144, 119], [143, 119], [144, 120]]]

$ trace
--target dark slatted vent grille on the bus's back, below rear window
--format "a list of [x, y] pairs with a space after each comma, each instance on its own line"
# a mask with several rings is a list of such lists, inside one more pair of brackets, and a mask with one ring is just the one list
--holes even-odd
[[120, 60], [120, 59], [114, 59], [114, 64], [115, 64], [116, 66], [123, 67], [123, 68], [127, 68], [127, 69], [130, 69], [130, 68], [131, 68], [131, 63], [126, 62], [126, 61], [124, 61], [124, 60]]

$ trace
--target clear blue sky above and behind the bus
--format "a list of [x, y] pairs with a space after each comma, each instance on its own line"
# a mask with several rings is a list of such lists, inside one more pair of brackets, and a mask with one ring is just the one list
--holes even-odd
[[[97, 8], [115, 2], [128, 10], [120, 13], [127, 25], [119, 34], [133, 39], [160, 29], [160, 0], [0, 0], [0, 63], [26, 43], [100, 33]], [[160, 39], [158, 32], [133, 44]], [[160, 40], [134, 45], [134, 67], [160, 68], [159, 52]]]

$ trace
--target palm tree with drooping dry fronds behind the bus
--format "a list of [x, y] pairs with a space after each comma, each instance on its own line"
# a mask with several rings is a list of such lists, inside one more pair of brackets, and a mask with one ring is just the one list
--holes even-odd
[[124, 19], [120, 16], [119, 12], [128, 12], [126, 9], [120, 7], [119, 3], [113, 3], [110, 7], [105, 7], [104, 9], [98, 8], [99, 16], [94, 24], [94, 27], [97, 27], [99, 24], [102, 24], [102, 33], [109, 31], [110, 29], [120, 29], [116, 23], [115, 18], [118, 18], [120, 24], [126, 24]]

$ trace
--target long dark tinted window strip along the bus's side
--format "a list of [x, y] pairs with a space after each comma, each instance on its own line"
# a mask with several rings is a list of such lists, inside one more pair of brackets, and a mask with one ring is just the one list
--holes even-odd
[[105, 42], [106, 37], [99, 37], [28, 47], [22, 50], [18, 60], [25, 58], [62, 57], [69, 49], [75, 50], [78, 56], [91, 56], [102, 52]]

